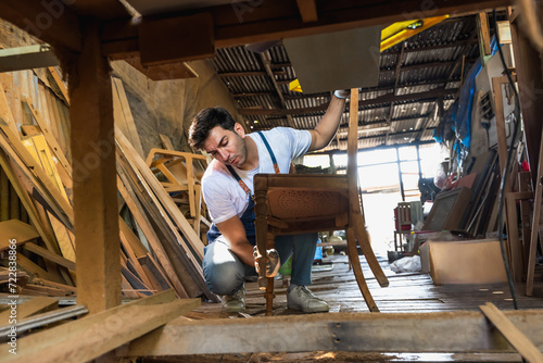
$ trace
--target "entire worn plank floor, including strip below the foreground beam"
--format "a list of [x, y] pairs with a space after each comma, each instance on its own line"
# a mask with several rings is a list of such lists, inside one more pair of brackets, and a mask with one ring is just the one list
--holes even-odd
[[[508, 286], [434, 286], [429, 274], [392, 272], [387, 259], [377, 256], [390, 280], [390, 286], [381, 288], [372, 277], [364, 256], [361, 256], [364, 274], [374, 299], [381, 313], [419, 313], [455, 310], [478, 310], [485, 302], [493, 302], [503, 310], [513, 310], [513, 299]], [[345, 255], [333, 255], [325, 260], [330, 263], [314, 266], [312, 290], [330, 305], [330, 313], [369, 313], [358, 290], [352, 271], [349, 271]], [[300, 314], [287, 309], [286, 288], [276, 280], [274, 302], [275, 315]], [[516, 287], [519, 309], [543, 308], [541, 283], [536, 284], [534, 297], [522, 293], [523, 286]], [[247, 318], [263, 316], [265, 303], [256, 283], [247, 283], [247, 311], [243, 314], [226, 314], [219, 303], [203, 303], [201, 308], [186, 316], [204, 318]], [[459, 333], [462, 334], [462, 331]], [[212, 343], [212, 342], [210, 342]], [[367, 353], [367, 352], [306, 352], [306, 353], [247, 353], [185, 355], [180, 358], [146, 358], [143, 362], [522, 362], [516, 353]]]

